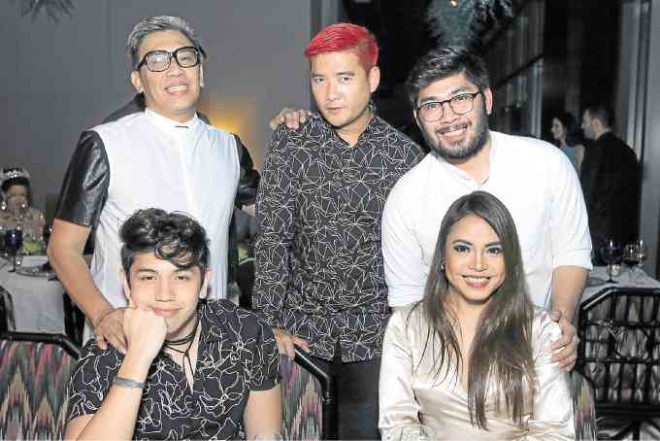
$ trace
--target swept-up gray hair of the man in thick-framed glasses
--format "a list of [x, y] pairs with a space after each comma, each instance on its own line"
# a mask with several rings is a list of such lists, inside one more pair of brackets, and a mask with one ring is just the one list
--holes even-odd
[[126, 50], [128, 52], [128, 58], [131, 61], [131, 67], [133, 69], [137, 68], [137, 65], [140, 63], [140, 45], [142, 40], [154, 32], [161, 31], [178, 31], [183, 34], [190, 42], [199, 49], [202, 54], [202, 59], [206, 57], [206, 52], [202, 48], [201, 41], [195, 36], [195, 31], [188, 24], [187, 21], [181, 17], [174, 17], [171, 15], [159, 15], [156, 17], [145, 18], [141, 22], [135, 25], [130, 35], [128, 36], [128, 41], [126, 42]]

